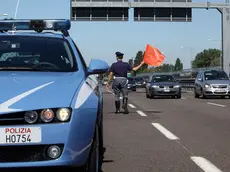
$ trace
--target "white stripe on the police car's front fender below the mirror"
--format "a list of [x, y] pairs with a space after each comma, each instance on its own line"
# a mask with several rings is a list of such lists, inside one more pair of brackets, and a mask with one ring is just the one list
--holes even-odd
[[[89, 83], [92, 88], [87, 83]], [[79, 108], [89, 98], [89, 96], [92, 94], [96, 86], [97, 85], [94, 84], [92, 81], [90, 81], [89, 78], [86, 79], [86, 81], [82, 84], [80, 91], [77, 95], [75, 109]]]

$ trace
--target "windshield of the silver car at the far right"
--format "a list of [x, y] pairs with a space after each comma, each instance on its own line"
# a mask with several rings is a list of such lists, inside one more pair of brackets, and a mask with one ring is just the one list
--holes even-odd
[[204, 72], [205, 80], [229, 80], [224, 71], [207, 71]]

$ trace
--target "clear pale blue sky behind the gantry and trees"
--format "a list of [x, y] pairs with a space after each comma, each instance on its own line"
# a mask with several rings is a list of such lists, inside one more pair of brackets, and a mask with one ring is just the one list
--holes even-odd
[[[0, 14], [13, 18], [17, 1], [0, 0]], [[18, 19], [70, 19], [70, 0], [19, 2]], [[70, 34], [87, 64], [92, 58], [111, 64], [116, 60], [116, 51], [124, 53], [124, 60], [128, 61], [139, 50], [144, 51], [146, 44], [151, 44], [164, 53], [164, 63], [174, 64], [180, 58], [187, 69], [203, 49], [220, 49], [221, 14], [216, 9], [193, 9], [192, 22], [72, 22]]]

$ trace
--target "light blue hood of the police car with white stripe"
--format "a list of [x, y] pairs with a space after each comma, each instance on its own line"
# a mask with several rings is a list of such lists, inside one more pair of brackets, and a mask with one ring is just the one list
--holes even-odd
[[0, 114], [69, 107], [82, 82], [78, 73], [0, 72]]

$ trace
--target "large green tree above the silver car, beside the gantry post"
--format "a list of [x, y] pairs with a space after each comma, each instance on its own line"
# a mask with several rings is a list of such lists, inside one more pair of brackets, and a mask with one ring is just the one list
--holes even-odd
[[220, 66], [221, 51], [218, 49], [205, 49], [198, 53], [192, 61], [193, 68]]

